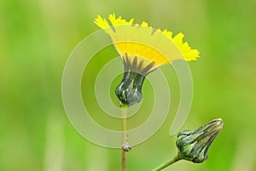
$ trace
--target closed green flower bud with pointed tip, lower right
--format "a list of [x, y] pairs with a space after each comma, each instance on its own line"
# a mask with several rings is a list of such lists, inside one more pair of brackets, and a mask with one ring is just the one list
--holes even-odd
[[214, 119], [194, 131], [185, 130], [177, 134], [178, 156], [191, 162], [204, 162], [212, 141], [222, 128], [222, 119]]

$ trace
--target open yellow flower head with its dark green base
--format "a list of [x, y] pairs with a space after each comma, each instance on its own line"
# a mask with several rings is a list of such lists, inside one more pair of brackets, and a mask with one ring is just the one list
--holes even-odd
[[199, 57], [197, 49], [183, 43], [183, 33], [172, 37], [172, 31], [155, 30], [144, 21], [133, 24], [133, 19], [116, 18], [115, 14], [109, 14], [108, 20], [98, 15], [94, 22], [112, 38], [123, 60], [125, 74], [115, 91], [123, 104], [133, 105], [142, 100], [144, 78], [157, 67], [173, 60], [190, 61]]

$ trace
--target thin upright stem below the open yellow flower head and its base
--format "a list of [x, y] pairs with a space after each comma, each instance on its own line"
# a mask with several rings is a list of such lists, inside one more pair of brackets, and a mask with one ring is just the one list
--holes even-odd
[[[127, 106], [122, 106], [122, 144], [127, 142]], [[122, 171], [126, 171], [126, 151], [122, 149]]]

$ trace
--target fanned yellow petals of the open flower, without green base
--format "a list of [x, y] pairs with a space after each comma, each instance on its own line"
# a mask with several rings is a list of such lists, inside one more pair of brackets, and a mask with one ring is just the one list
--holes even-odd
[[172, 37], [172, 31], [154, 30], [147, 22], [133, 24], [133, 19], [126, 21], [115, 14], [109, 14], [108, 20], [102, 19], [100, 15], [94, 21], [113, 40], [119, 54], [129, 58], [134, 56], [154, 62], [155, 66], [171, 63], [173, 60], [196, 60], [199, 51], [191, 49], [189, 43], [183, 43], [183, 33]]

